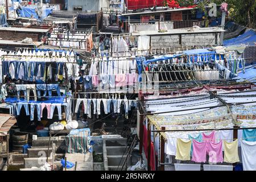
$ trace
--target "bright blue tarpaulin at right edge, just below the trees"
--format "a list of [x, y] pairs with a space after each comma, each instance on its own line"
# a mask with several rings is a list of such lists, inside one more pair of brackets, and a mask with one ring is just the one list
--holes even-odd
[[233, 39], [224, 40], [224, 46], [233, 46], [239, 44], [246, 44], [248, 46], [255, 46], [256, 43], [256, 32], [254, 30], [247, 30], [240, 36]]

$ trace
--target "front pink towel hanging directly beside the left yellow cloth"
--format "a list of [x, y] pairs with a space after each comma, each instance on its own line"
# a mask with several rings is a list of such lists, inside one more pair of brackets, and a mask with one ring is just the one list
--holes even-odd
[[192, 161], [196, 163], [205, 163], [207, 161], [207, 143], [208, 142], [197, 142], [193, 140], [193, 154]]

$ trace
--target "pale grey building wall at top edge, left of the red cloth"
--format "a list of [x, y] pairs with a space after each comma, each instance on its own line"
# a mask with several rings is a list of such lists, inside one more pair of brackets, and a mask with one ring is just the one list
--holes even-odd
[[73, 10], [73, 6], [82, 6], [82, 11], [100, 11], [101, 7], [109, 7], [110, 0], [68, 0], [68, 11]]

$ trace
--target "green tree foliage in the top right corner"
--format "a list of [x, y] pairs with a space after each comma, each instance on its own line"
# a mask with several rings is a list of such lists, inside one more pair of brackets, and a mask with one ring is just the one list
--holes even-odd
[[[180, 6], [194, 5], [193, 0], [177, 0]], [[239, 24], [249, 28], [256, 28], [256, 0], [201, 0], [197, 3], [197, 8], [207, 15], [205, 6], [209, 3], [221, 5], [222, 2], [228, 3], [229, 17]]]

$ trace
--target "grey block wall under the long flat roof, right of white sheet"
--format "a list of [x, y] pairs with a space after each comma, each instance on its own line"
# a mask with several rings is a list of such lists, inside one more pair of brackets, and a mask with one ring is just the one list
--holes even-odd
[[[215, 34], [181, 35], [182, 46], [208, 46], [215, 44]], [[217, 43], [220, 42], [218, 36]], [[170, 48], [179, 46], [179, 35], [151, 36], [151, 48]]]

